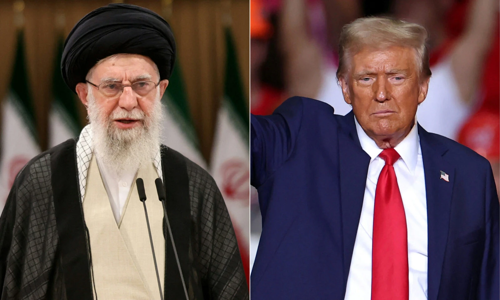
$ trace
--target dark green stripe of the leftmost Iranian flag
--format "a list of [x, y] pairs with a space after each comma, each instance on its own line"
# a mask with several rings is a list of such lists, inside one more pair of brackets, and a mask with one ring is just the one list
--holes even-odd
[[24, 33], [19, 30], [17, 33], [17, 45], [15, 50], [14, 68], [10, 79], [11, 99], [14, 107], [24, 119], [34, 140], [38, 134], [35, 129], [35, 115], [29, 89], [26, 60], [24, 55]]

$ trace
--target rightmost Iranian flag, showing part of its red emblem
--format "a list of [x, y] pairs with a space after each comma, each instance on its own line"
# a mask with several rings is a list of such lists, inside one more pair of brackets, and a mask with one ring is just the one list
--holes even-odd
[[210, 167], [231, 216], [248, 282], [250, 235], [248, 108], [243, 95], [232, 34], [227, 27], [225, 39], [224, 96], [217, 116]]

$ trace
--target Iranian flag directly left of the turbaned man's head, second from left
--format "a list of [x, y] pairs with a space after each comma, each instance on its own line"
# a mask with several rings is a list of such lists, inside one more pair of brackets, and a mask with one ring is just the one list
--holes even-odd
[[53, 101], [49, 116], [48, 146], [53, 147], [68, 138], [80, 134], [81, 124], [76, 107], [76, 97], [62, 79], [60, 63], [64, 39], [62, 36], [57, 42], [57, 53], [54, 59], [54, 73], [52, 75]]

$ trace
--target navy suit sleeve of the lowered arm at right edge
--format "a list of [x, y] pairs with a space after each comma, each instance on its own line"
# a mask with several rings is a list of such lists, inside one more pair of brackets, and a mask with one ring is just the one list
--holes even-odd
[[485, 239], [484, 253], [479, 275], [478, 299], [500, 298], [500, 231], [498, 230], [500, 208], [496, 194], [495, 182], [491, 166], [486, 175], [486, 209], [485, 209]]

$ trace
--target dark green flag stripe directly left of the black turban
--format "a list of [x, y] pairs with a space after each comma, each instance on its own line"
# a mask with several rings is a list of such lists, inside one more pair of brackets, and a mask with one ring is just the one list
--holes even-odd
[[54, 108], [58, 110], [66, 122], [67, 126], [75, 136], [78, 136], [82, 128], [76, 98], [74, 93], [67, 87], [62, 79], [60, 71], [64, 38], [59, 36], [57, 42], [57, 53], [54, 59], [54, 74], [52, 76], [52, 94], [54, 96]]

